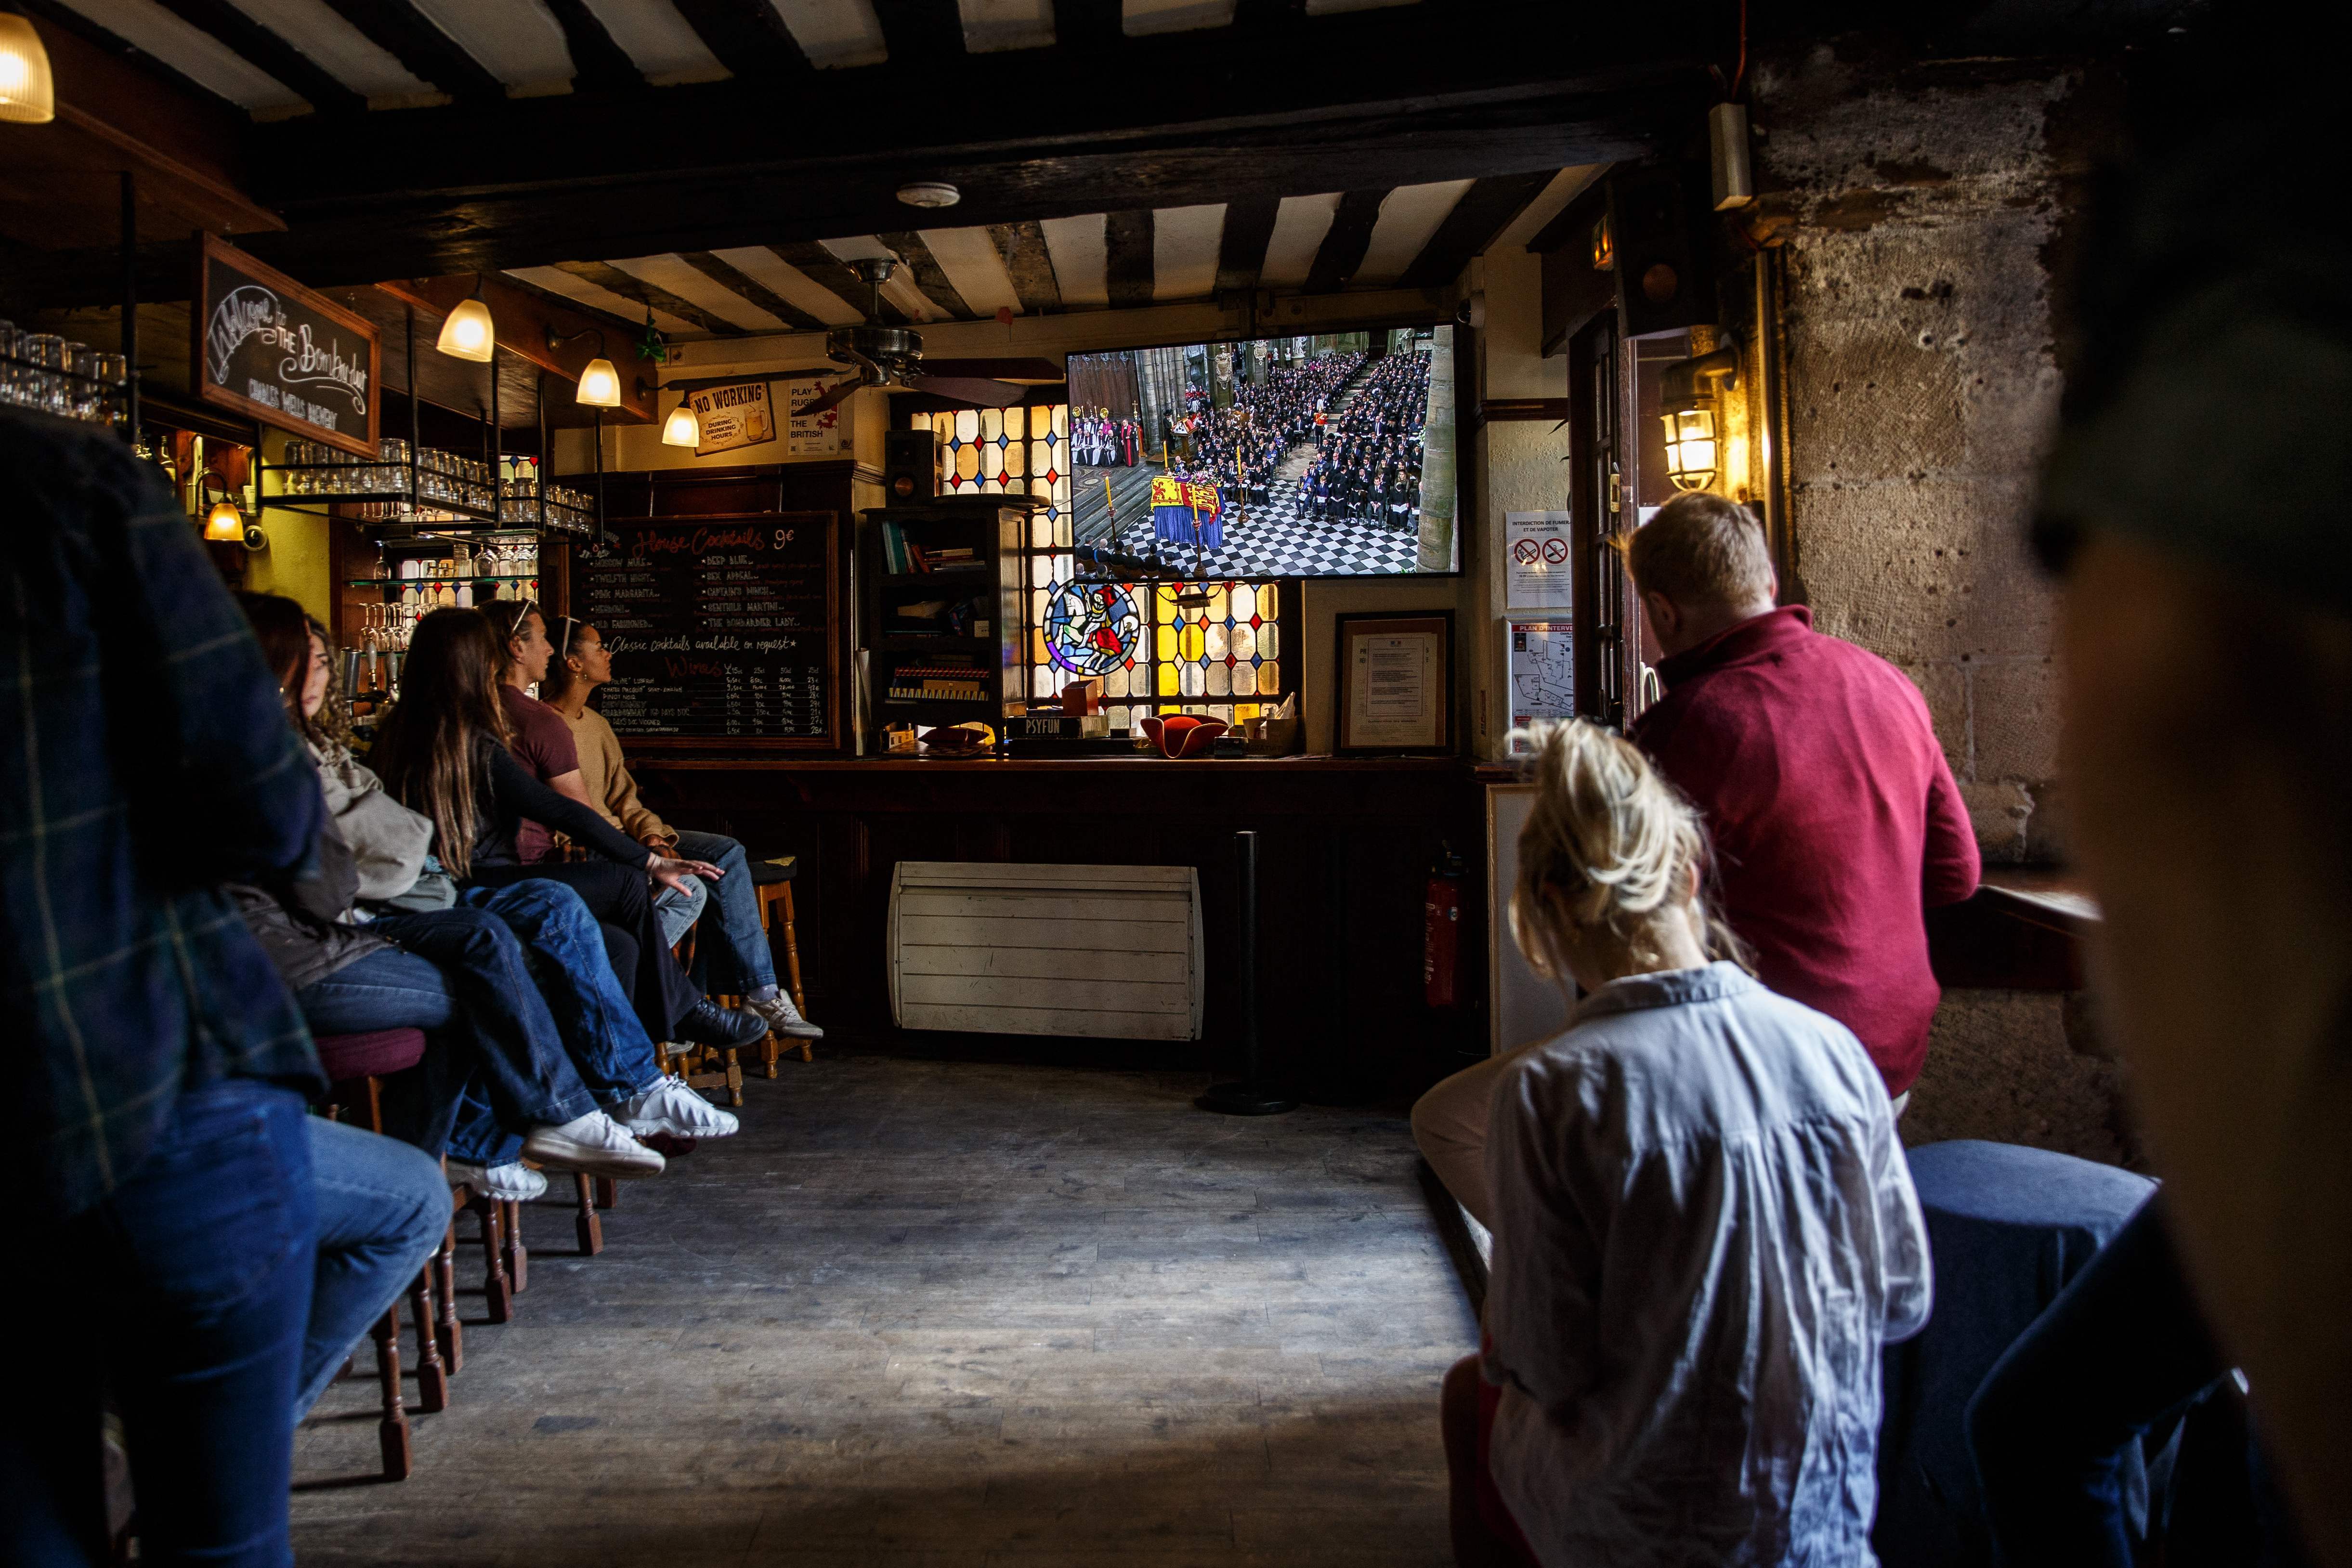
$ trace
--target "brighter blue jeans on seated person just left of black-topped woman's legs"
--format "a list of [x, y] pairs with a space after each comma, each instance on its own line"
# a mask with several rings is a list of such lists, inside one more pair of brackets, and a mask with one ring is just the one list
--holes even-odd
[[[506, 886], [470, 886], [459, 898], [506, 922], [529, 954], [532, 980], [590, 1095], [590, 1105], [574, 1114], [619, 1105], [661, 1081], [654, 1041], [621, 994], [604, 952], [604, 931], [579, 893], [562, 882], [529, 877]], [[510, 1166], [520, 1159], [522, 1143], [501, 1131], [492, 1105], [468, 1091], [449, 1154], [477, 1166]]]

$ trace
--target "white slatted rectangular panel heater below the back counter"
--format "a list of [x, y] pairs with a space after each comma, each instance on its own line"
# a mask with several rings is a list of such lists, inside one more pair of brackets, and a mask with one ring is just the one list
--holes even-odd
[[901, 860], [889, 1004], [901, 1030], [1200, 1039], [1200, 872]]

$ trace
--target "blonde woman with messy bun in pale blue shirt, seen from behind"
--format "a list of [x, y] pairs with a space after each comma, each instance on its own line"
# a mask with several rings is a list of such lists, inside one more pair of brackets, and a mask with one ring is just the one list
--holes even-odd
[[1522, 733], [1510, 929], [1571, 1023], [1414, 1107], [1494, 1232], [1442, 1394], [1456, 1561], [1875, 1563], [1879, 1349], [1931, 1295], [1886, 1088], [1740, 964], [1639, 750]]

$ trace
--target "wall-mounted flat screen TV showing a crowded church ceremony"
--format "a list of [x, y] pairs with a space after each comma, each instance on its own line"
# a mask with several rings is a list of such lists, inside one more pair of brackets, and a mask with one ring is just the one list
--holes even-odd
[[1461, 569], [1454, 327], [1070, 355], [1080, 581]]

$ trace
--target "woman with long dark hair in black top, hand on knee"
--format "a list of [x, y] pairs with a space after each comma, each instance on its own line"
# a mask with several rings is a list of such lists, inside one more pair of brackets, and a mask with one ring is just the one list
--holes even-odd
[[[713, 1046], [762, 1039], [767, 1025], [755, 1016], [696, 994], [661, 940], [647, 893], [647, 877], [682, 886], [689, 877], [717, 882], [720, 867], [649, 851], [532, 778], [506, 750], [503, 675], [506, 646], [480, 611], [435, 609], [419, 621], [400, 670], [400, 703], [383, 717], [369, 755], [376, 776], [412, 811], [433, 818], [440, 860], [459, 882], [503, 886], [546, 877], [579, 893], [604, 929], [604, 950], [647, 1034]], [[602, 858], [524, 865], [515, 853], [524, 818], [572, 835]]]

